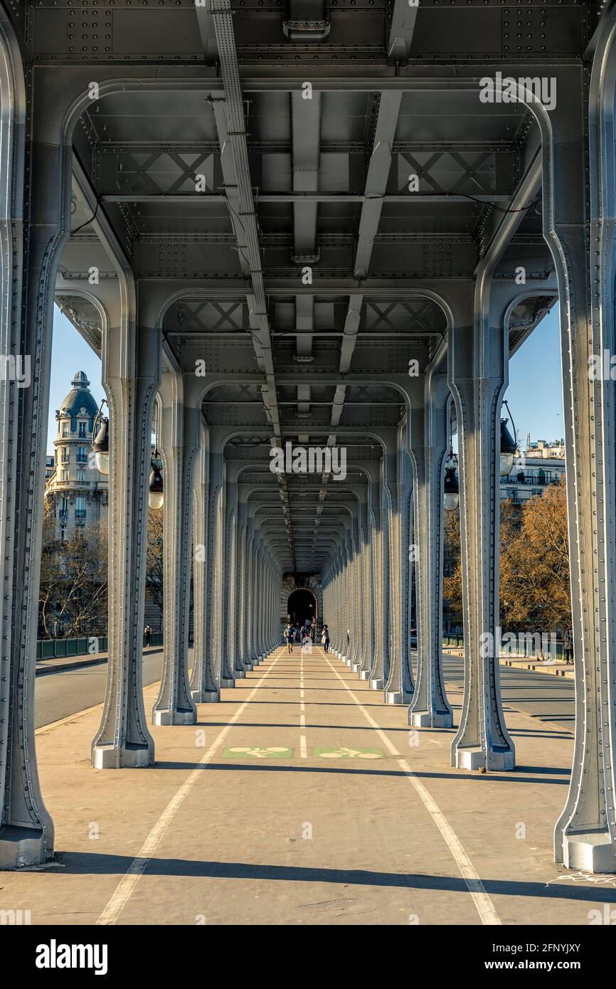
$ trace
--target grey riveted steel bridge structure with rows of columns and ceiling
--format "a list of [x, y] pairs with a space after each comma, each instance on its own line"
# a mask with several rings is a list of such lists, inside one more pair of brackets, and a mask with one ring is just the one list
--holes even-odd
[[[92, 764], [154, 760], [141, 629], [155, 413], [154, 723], [195, 723], [280, 644], [305, 587], [332, 647], [409, 725], [452, 725], [455, 420], [466, 653], [451, 760], [501, 771], [515, 752], [484, 649], [501, 401], [509, 356], [558, 303], [576, 702], [555, 854], [616, 871], [616, 395], [588, 375], [616, 353], [615, 37], [596, 0], [0, 3], [0, 350], [5, 372], [8, 355], [30, 367], [28, 387], [0, 380], [2, 866], [53, 853], [33, 708], [54, 302], [102, 356], [110, 410]], [[298, 448], [315, 470], [272, 469]]]

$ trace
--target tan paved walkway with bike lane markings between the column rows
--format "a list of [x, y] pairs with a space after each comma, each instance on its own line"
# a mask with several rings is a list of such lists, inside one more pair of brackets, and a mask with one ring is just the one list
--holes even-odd
[[[144, 690], [149, 711], [156, 685]], [[454, 718], [459, 684], [449, 685]], [[276, 650], [150, 730], [157, 763], [94, 771], [100, 705], [39, 729], [56, 859], [0, 874], [33, 924], [587, 925], [616, 877], [552, 862], [572, 738], [507, 711], [518, 767], [467, 772], [338, 659]]]

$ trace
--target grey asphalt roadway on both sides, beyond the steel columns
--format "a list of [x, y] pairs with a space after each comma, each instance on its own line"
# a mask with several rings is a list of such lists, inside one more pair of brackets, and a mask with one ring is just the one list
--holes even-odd
[[[150, 653], [143, 661], [143, 685], [160, 678], [162, 651]], [[445, 655], [443, 670], [446, 683], [462, 684], [461, 658]], [[107, 664], [66, 670], [63, 673], [40, 674], [36, 679], [36, 727], [58, 721], [105, 699]], [[551, 721], [570, 734], [573, 732], [573, 680], [551, 674], [533, 673], [500, 667], [500, 686], [505, 711], [524, 711], [538, 721]], [[456, 712], [456, 721], [459, 713]]]

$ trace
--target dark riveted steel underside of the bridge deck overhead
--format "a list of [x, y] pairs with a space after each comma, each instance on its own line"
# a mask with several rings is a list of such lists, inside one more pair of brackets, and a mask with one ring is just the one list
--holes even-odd
[[[62, 48], [52, 6], [35, 12], [37, 57], [96, 61], [92, 39], [86, 54]], [[70, 6], [60, 5], [66, 26]], [[204, 414], [234, 431], [224, 456], [245, 461], [240, 484], [258, 480], [262, 524], [281, 566], [313, 572], [342, 531], [353, 488], [366, 484], [362, 465], [382, 457], [375, 430], [395, 430], [404, 414], [392, 376], [405, 375], [411, 359], [425, 369], [442, 354], [445, 316], [422, 286], [473, 276], [486, 230], [505, 214], [532, 155], [536, 126], [526, 109], [482, 104], [464, 76], [483, 74], [473, 59], [486, 54], [545, 57], [546, 34], [557, 56], [574, 53], [579, 7], [544, 5], [540, 17], [533, 5], [524, 39], [514, 41], [508, 8], [493, 2], [445, 10], [429, 0], [413, 12], [402, 0], [233, 0], [243, 125], [229, 135], [232, 69], [218, 62], [214, 22], [193, 0], [156, 6], [114, 5], [106, 57], [144, 58], [148, 68], [173, 60], [179, 79], [190, 66], [189, 88], [149, 84], [95, 102], [75, 129], [76, 159], [137, 279], [165, 282], [178, 296], [164, 337], [185, 370], [202, 358], [216, 373]], [[89, 23], [94, 13], [83, 16]], [[312, 20], [309, 38], [294, 18]], [[374, 86], [364, 79], [354, 88], [370, 72]], [[379, 85], [396, 73], [407, 74], [406, 89]], [[168, 82], [166, 69], [163, 76]], [[305, 100], [299, 82], [312, 76]], [[237, 193], [244, 151], [245, 215]], [[70, 285], [87, 277], [86, 258], [100, 255], [94, 263], [113, 277], [89, 217], [76, 197], [80, 229], [60, 266], [67, 300]], [[549, 264], [534, 204], [520, 215], [497, 277], [526, 259], [538, 272]], [[512, 350], [553, 303], [543, 296], [516, 308]], [[66, 311], [79, 325], [74, 296]], [[84, 326], [90, 316], [84, 310]], [[272, 444], [287, 442], [344, 443], [345, 482], [273, 474]]]

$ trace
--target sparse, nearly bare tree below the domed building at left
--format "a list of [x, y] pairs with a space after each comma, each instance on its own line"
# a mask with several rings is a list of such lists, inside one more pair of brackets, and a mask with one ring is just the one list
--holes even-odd
[[39, 598], [44, 636], [106, 635], [107, 526], [75, 528], [64, 542], [54, 529], [45, 512]]

